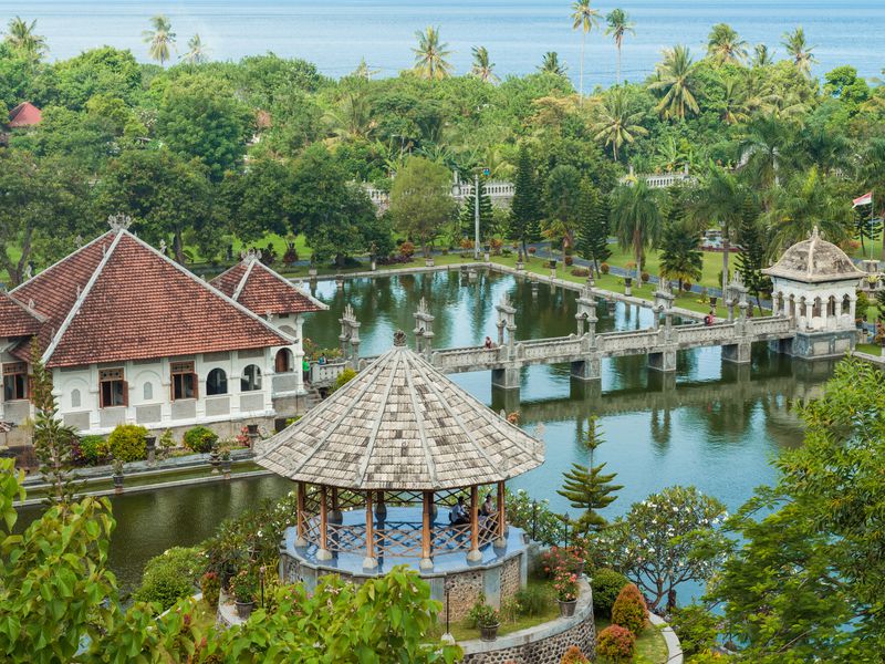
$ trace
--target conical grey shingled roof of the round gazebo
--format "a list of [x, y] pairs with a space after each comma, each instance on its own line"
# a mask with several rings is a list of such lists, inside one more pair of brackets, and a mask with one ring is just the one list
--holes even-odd
[[406, 347], [402, 332], [389, 351], [258, 453], [259, 465], [283, 477], [362, 490], [491, 484], [544, 461], [543, 443]]

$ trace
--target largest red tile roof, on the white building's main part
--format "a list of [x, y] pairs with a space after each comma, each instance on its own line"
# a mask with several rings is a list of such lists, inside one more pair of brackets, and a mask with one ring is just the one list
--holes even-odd
[[[96, 255], [98, 263], [83, 283]], [[40, 334], [48, 366], [291, 343], [125, 230], [105, 234], [13, 294], [33, 298], [35, 309], [51, 317]]]

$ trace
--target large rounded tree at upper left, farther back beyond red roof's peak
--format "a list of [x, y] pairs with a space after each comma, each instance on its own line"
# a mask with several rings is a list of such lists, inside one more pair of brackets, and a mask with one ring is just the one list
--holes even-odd
[[239, 166], [253, 129], [249, 108], [218, 81], [181, 76], [163, 95], [157, 136], [171, 149], [197, 157], [214, 181]]

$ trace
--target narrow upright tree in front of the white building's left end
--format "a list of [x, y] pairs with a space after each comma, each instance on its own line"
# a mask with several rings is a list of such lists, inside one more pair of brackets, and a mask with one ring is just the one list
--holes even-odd
[[71, 477], [76, 432], [58, 417], [59, 407], [52, 394], [52, 374], [41, 360], [40, 346], [31, 342], [31, 400], [34, 418], [34, 454], [40, 473], [49, 485], [46, 502], [67, 504], [74, 500], [76, 486]]

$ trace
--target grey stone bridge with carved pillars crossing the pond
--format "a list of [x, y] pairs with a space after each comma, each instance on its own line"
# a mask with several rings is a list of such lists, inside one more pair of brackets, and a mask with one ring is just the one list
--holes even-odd
[[[434, 317], [421, 300], [415, 313], [415, 339], [417, 351], [434, 366], [445, 373], [490, 371], [492, 385], [518, 391], [520, 373], [533, 364], [571, 364], [574, 378], [585, 382], [601, 378], [603, 357], [647, 355], [650, 370], [673, 374], [676, 372], [678, 351], [707, 346], [721, 346], [722, 359], [736, 364], [749, 364], [751, 345], [757, 342], [780, 344], [795, 335], [792, 318], [774, 315], [749, 318], [747, 288], [739, 278], [729, 286], [726, 299], [728, 320], [711, 325], [698, 323], [674, 325], [673, 302], [666, 280], [655, 292], [652, 310], [654, 326], [648, 330], [596, 333], [596, 298], [603, 295], [594, 288], [592, 277], [577, 298], [575, 314], [576, 332], [569, 336], [539, 340], [516, 339], [516, 309], [507, 295], [496, 307], [498, 311], [498, 343], [491, 347], [467, 346], [456, 349], [433, 347]], [[737, 310], [737, 314], [736, 314]], [[358, 326], [348, 308], [340, 320], [342, 355], [345, 363], [361, 369], [372, 357], [358, 357]], [[330, 375], [335, 365], [325, 370]]]

